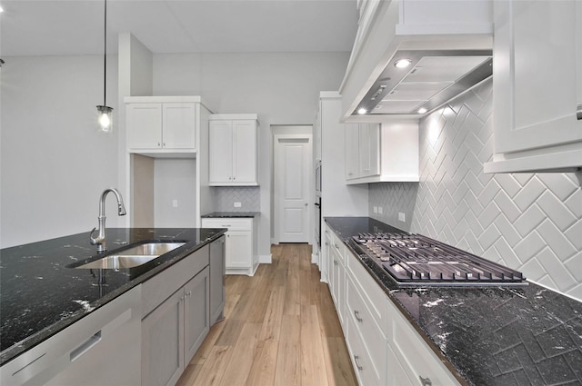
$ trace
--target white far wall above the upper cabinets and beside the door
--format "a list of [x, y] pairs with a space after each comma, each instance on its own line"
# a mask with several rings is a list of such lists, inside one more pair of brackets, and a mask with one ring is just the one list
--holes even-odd
[[339, 88], [348, 58], [349, 53], [154, 55], [155, 95], [201, 95], [213, 113], [258, 114], [259, 255], [270, 254], [273, 221], [270, 127], [313, 124], [319, 91]]

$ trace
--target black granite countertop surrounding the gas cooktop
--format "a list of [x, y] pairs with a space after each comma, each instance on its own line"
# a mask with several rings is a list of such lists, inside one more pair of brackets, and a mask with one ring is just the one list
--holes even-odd
[[326, 223], [459, 381], [582, 384], [582, 302], [533, 282], [519, 288], [398, 289], [348, 240], [356, 233], [403, 231], [368, 217], [326, 217]]

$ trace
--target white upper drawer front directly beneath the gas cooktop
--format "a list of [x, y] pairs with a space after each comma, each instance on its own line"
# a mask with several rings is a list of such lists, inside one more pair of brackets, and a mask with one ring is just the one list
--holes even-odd
[[354, 280], [357, 288], [360, 289], [362, 300], [367, 308], [372, 312], [382, 332], [387, 336], [388, 309], [386, 307], [387, 295], [374, 281], [370, 273], [362, 265], [359, 258], [350, 251], [346, 251], [346, 271]]

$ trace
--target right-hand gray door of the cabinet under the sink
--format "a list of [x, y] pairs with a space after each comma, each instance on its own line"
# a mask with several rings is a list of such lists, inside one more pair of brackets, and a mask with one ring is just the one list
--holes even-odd
[[184, 286], [184, 366], [210, 331], [210, 280], [206, 267]]

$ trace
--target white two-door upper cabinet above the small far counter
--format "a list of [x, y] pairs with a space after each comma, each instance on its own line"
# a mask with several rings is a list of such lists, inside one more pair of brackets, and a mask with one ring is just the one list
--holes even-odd
[[258, 185], [257, 115], [214, 114], [209, 132], [210, 185]]

